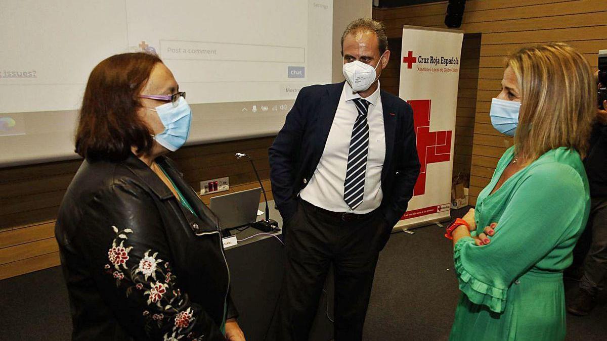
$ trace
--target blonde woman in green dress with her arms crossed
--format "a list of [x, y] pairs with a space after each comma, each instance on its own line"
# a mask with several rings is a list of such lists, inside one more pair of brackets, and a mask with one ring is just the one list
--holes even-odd
[[589, 212], [591, 67], [566, 44], [525, 47], [501, 84], [490, 118], [514, 146], [476, 210], [447, 229], [462, 291], [450, 340], [563, 340], [562, 273]]

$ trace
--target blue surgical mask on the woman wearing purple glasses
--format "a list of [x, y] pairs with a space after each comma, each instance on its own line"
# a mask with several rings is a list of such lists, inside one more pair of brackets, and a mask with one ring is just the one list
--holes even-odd
[[189, 126], [192, 121], [192, 110], [186, 99], [180, 97], [177, 106], [173, 103], [166, 103], [150, 110], [158, 113], [158, 117], [164, 125], [164, 131], [155, 135], [154, 140], [171, 152], [183, 146], [188, 140]]

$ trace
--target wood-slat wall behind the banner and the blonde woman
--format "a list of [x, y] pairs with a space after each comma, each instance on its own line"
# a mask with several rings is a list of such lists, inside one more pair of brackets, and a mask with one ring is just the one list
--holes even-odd
[[[402, 35], [402, 25], [444, 28], [447, 1], [426, 5], [378, 9], [390, 38]], [[466, 2], [461, 30], [481, 33], [476, 92], [470, 203], [489, 183], [497, 161], [512, 146], [507, 138], [493, 129], [489, 120], [491, 99], [500, 92], [504, 58], [514, 50], [532, 43], [564, 41], [584, 54], [592, 67], [597, 67], [597, 52], [607, 48], [605, 1], [599, 0], [469, 0]], [[464, 70], [462, 70], [464, 72]], [[458, 107], [470, 108], [469, 92], [460, 90]], [[457, 143], [457, 140], [456, 140]], [[465, 146], [455, 146], [456, 150]]]

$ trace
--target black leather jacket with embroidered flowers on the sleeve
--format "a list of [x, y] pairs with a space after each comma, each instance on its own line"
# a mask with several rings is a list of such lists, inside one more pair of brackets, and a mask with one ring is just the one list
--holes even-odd
[[157, 163], [195, 215], [135, 155], [85, 160], [59, 209], [55, 237], [73, 340], [225, 340], [229, 271], [219, 222], [174, 163]]

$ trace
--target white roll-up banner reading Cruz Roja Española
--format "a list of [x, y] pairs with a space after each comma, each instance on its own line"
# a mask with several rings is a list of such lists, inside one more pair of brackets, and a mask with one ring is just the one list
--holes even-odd
[[399, 97], [413, 107], [419, 178], [398, 228], [450, 218], [453, 140], [464, 33], [459, 30], [402, 28]]

